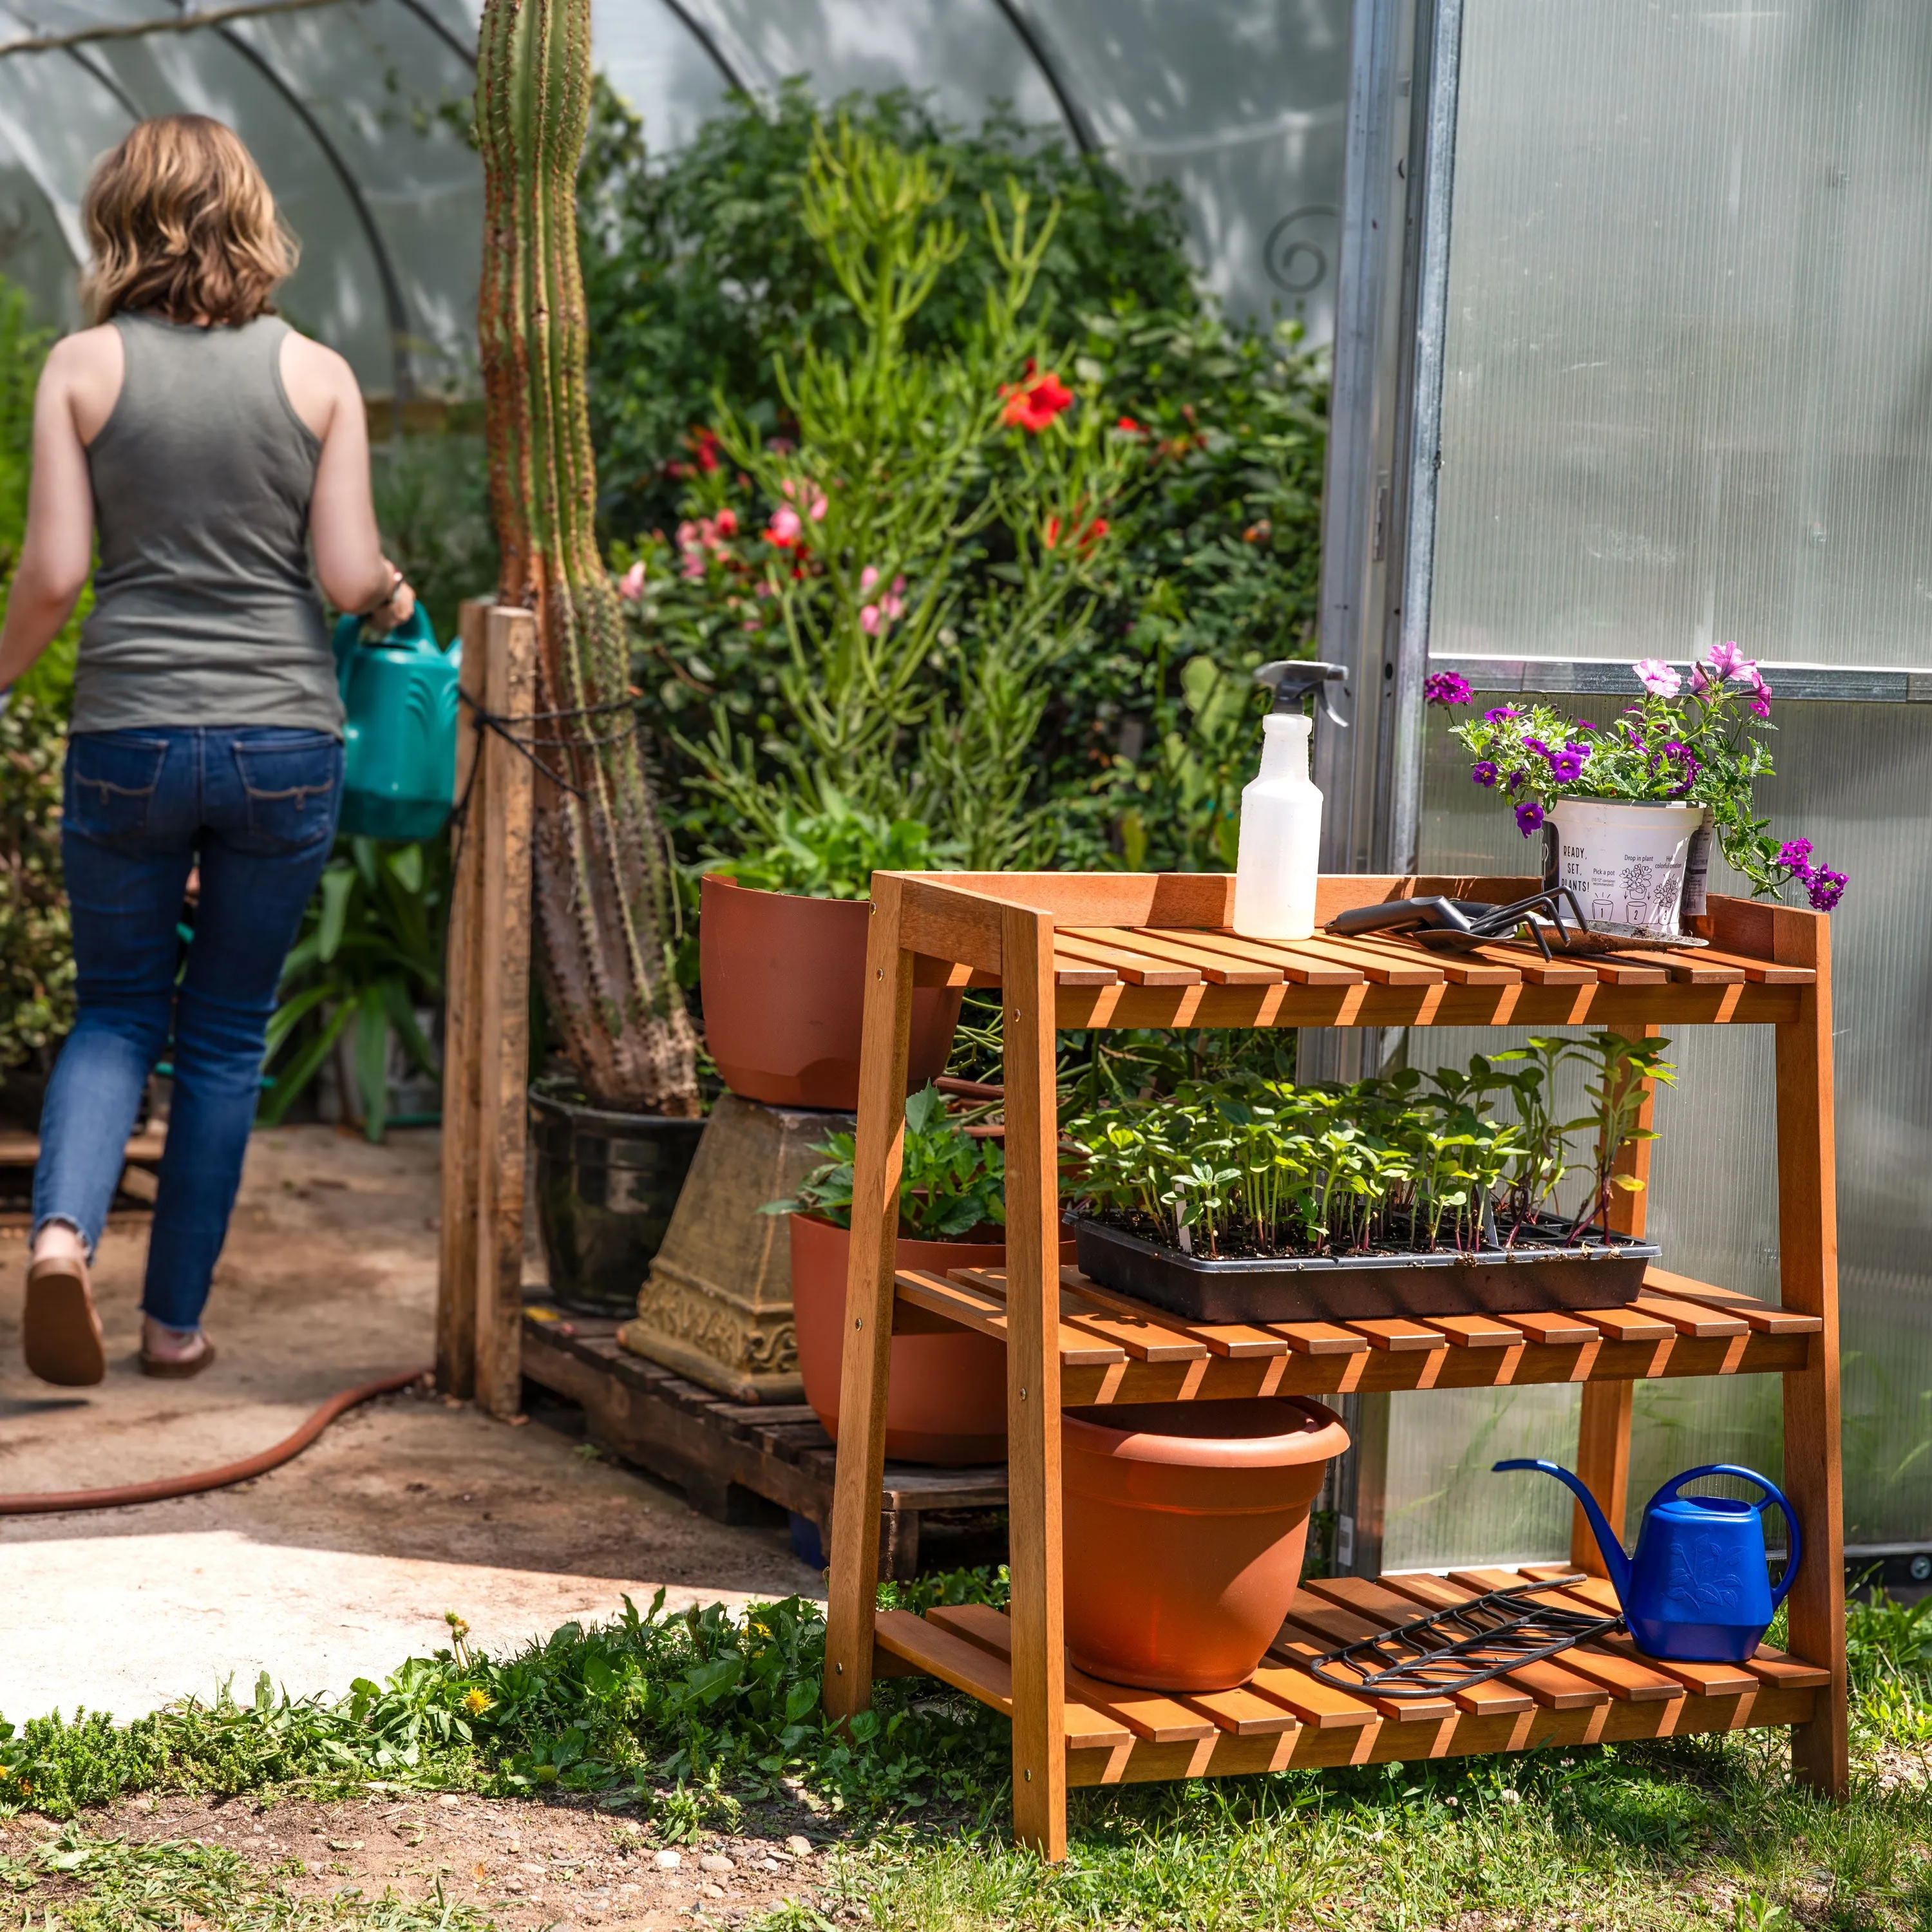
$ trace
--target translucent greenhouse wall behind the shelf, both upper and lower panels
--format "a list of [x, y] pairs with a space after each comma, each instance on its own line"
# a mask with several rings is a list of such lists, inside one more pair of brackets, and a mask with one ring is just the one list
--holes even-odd
[[[1737, 638], [1932, 667], [1928, 100], [1913, 0], [1466, 0], [1432, 651], [1683, 661]], [[1832, 920], [1845, 1536], [1932, 1544], [1932, 705], [1774, 717], [1760, 804], [1851, 873]], [[1420, 866], [1536, 864], [1432, 713]], [[1428, 1066], [1482, 1045], [1410, 1034]], [[1776, 1300], [1770, 1041], [1687, 1028], [1673, 1057], [1665, 1265]], [[1571, 1461], [1575, 1412], [1571, 1391], [1399, 1397], [1385, 1561], [1565, 1553], [1567, 1501], [1486, 1470]], [[1776, 1379], [1638, 1385], [1633, 1507], [1692, 1463], [1777, 1455]]]

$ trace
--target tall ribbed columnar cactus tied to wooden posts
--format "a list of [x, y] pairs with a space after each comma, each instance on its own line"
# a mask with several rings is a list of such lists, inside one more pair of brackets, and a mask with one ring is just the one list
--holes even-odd
[[[597, 553], [576, 174], [591, 0], [487, 0], [477, 46], [479, 330], [498, 597], [537, 612], [537, 933], [551, 1014], [593, 1099], [696, 1113], [696, 1037], [670, 972], [672, 879], [630, 665]], [[614, 707], [614, 709], [601, 709]]]

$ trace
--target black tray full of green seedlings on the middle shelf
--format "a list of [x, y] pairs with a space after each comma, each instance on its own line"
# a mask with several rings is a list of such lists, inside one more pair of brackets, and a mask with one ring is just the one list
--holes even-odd
[[[1356, 1086], [1296, 1088], [1256, 1076], [1188, 1082], [1171, 1099], [1070, 1126], [1084, 1150], [1074, 1190], [1080, 1267], [1107, 1287], [1198, 1321], [1604, 1308], [1634, 1300], [1658, 1248], [1611, 1233], [1605, 1209], [1644, 1080], [1669, 1080], [1663, 1041], [1596, 1034]], [[1590, 1115], [1555, 1122], [1565, 1059], [1598, 1082]], [[1519, 1095], [1520, 1122], [1492, 1103]], [[1588, 1126], [1590, 1188], [1551, 1211]]]

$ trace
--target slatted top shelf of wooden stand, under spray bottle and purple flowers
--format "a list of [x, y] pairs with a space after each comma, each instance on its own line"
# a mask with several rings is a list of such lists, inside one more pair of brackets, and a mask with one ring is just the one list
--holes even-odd
[[[1544, 960], [1532, 945], [1437, 952], [1412, 939], [1233, 933], [1219, 873], [902, 873], [918, 978], [999, 985], [1007, 908], [1053, 916], [1055, 1022], [1121, 1026], [1615, 1026], [1795, 1020], [1824, 958], [1820, 914], [1712, 898], [1704, 947]], [[1321, 879], [1318, 922], [1445, 893], [1505, 900], [1528, 879]], [[991, 941], [991, 947], [987, 945]]]

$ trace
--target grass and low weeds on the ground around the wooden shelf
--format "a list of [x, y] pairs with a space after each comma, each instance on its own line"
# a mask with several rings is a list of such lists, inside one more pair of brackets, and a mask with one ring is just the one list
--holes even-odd
[[[1003, 1577], [958, 1573], [896, 1594], [910, 1607], [997, 1600]], [[597, 1629], [564, 1625], [497, 1663], [471, 1654], [458, 1625], [446, 1652], [342, 1700], [290, 1700], [263, 1683], [253, 1700], [128, 1725], [85, 1714], [0, 1723], [0, 1808], [71, 1820], [143, 1789], [572, 1793], [639, 1810], [663, 1843], [697, 1843], [732, 1828], [742, 1804], [792, 1797], [842, 1849], [821, 1868], [817, 1903], [769, 1917], [767, 1932], [856, 1920], [891, 1932], [1932, 1932], [1932, 1605], [1851, 1607], [1855, 1795], [1841, 1806], [1791, 1783], [1781, 1733], [1737, 1733], [1082, 1791], [1072, 1857], [1051, 1868], [1007, 1841], [1005, 1723], [925, 1679], [895, 1679], [854, 1735], [833, 1735], [817, 1712], [823, 1634], [798, 1600], [742, 1621], [665, 1617], [653, 1604]], [[226, 1851], [112, 1849], [71, 1824], [52, 1843], [64, 1849], [43, 1847], [43, 1862], [73, 1857], [95, 1874], [85, 1899], [60, 1905], [66, 1924], [309, 1922], [309, 1905], [276, 1903]], [[21, 1905], [39, 1922], [52, 1882], [19, 1859], [0, 1864], [0, 1924], [10, 1886], [33, 1888]], [[242, 1889], [228, 1903], [207, 1893], [211, 1911], [195, 1888], [216, 1884]], [[174, 1905], [141, 1907], [141, 1886]], [[355, 1899], [328, 1922], [413, 1926], [425, 1911]]]

